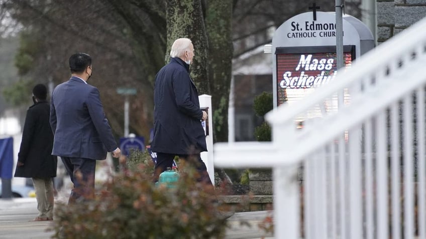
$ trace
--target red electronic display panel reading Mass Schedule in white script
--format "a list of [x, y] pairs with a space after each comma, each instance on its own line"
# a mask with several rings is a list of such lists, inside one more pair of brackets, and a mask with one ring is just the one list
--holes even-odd
[[[276, 48], [277, 104], [294, 104], [310, 94], [315, 88], [330, 84], [337, 75], [336, 47], [287, 47]], [[355, 46], [344, 46], [345, 66], [350, 67], [355, 59]], [[344, 94], [345, 104], [349, 94]], [[337, 110], [337, 95], [324, 103], [326, 111]], [[299, 116], [296, 122], [307, 118], [321, 117], [316, 109]]]

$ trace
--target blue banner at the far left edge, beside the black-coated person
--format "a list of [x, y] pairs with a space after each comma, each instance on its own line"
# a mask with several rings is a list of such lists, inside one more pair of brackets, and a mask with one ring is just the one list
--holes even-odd
[[13, 138], [0, 139], [0, 177], [12, 178], [13, 171]]

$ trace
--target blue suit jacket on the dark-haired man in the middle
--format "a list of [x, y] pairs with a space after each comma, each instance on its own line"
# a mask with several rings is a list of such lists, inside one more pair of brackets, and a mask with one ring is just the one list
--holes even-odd
[[53, 155], [101, 160], [117, 149], [103, 112], [99, 91], [77, 77], [58, 85], [52, 93], [50, 125]]

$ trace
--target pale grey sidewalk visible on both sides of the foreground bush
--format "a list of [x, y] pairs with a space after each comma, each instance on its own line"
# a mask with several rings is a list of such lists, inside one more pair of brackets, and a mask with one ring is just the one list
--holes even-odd
[[[56, 199], [56, 198], [55, 198]], [[61, 198], [62, 200], [62, 198]], [[228, 219], [230, 228], [227, 230], [227, 239], [262, 238], [265, 232], [260, 230], [258, 224], [268, 215], [267, 211], [237, 212]], [[53, 231], [49, 228], [49, 221], [31, 221], [37, 216], [37, 202], [35, 198], [0, 198], [0, 238], [50, 238]], [[247, 222], [250, 226], [241, 224]], [[272, 239], [273, 237], [264, 237]]]

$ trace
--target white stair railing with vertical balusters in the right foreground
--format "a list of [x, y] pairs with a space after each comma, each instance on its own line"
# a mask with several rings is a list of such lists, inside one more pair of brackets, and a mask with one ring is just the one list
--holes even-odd
[[[215, 166], [273, 168], [276, 238], [426, 238], [425, 29], [423, 19], [269, 112], [272, 142], [215, 144]], [[296, 129], [345, 89], [350, 104]]]

